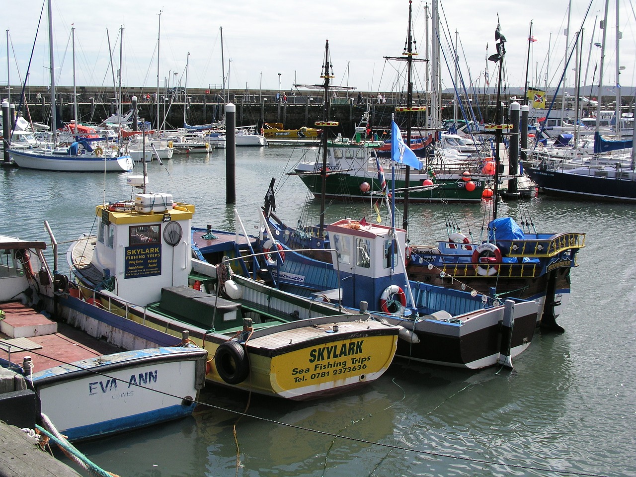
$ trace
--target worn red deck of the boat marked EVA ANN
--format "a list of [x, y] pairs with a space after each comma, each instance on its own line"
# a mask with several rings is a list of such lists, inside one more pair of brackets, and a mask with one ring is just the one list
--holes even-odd
[[19, 301], [0, 303], [0, 359], [22, 365], [31, 356], [33, 372], [122, 351], [67, 324], [52, 321]]

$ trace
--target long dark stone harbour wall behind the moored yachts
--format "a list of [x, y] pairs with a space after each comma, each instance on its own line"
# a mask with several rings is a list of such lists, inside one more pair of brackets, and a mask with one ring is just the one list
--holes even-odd
[[[20, 98], [19, 86], [11, 86], [11, 103], [18, 104]], [[68, 122], [74, 118], [73, 87], [57, 86], [56, 102], [61, 121]], [[116, 112], [116, 93], [113, 89], [105, 90], [92, 86], [76, 88], [78, 98], [78, 121], [82, 123], [100, 123]], [[223, 94], [222, 90], [204, 90], [194, 88], [186, 90], [176, 87], [160, 90], [158, 98], [156, 90], [144, 88], [125, 88], [121, 90], [121, 112], [127, 113], [132, 106], [132, 97], [137, 97], [139, 118], [149, 121], [153, 128], [161, 127], [165, 118], [165, 129], [177, 129], [184, 125], [213, 123], [223, 117], [225, 104], [232, 101], [236, 107], [237, 126], [256, 125], [263, 123], [283, 123], [286, 128], [312, 127], [315, 121], [324, 120], [324, 99], [319, 90], [310, 92], [295, 92], [287, 95], [286, 101], [278, 91], [274, 90], [230, 90]], [[120, 92], [118, 90], [117, 95]], [[331, 105], [329, 120], [338, 121], [338, 132], [343, 135], [353, 135], [360, 123], [363, 113], [370, 111], [371, 127], [374, 130], [389, 128], [391, 117], [396, 106], [406, 106], [405, 97], [399, 93], [382, 93], [385, 102], [378, 102], [377, 94], [370, 92], [336, 93], [329, 99]], [[520, 101], [520, 99], [516, 99]], [[628, 101], [623, 97], [623, 103]], [[504, 104], [507, 101], [504, 100]], [[25, 89], [24, 100], [20, 112], [31, 121], [50, 123], [50, 90], [46, 86], [29, 86]], [[157, 104], [158, 103], [158, 104]], [[425, 97], [421, 93], [414, 93], [413, 104], [424, 106]], [[441, 98], [442, 119], [453, 118], [453, 94], [444, 93]], [[627, 104], [630, 104], [629, 102]], [[495, 103], [492, 95], [478, 95], [471, 103], [476, 114], [484, 123], [495, 121]], [[479, 112], [479, 113], [478, 113]], [[398, 113], [404, 114], [404, 113]], [[413, 124], [425, 123], [424, 111], [413, 113]], [[461, 111], [457, 113], [461, 117]], [[157, 121], [159, 118], [159, 121]], [[508, 121], [508, 111], [504, 107], [504, 122]], [[59, 126], [61, 124], [59, 123]]]

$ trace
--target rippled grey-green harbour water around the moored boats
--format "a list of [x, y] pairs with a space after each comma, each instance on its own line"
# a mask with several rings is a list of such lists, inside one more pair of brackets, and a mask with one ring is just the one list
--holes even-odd
[[[237, 149], [236, 207], [248, 233], [256, 232], [271, 177], [280, 186], [280, 218], [295, 224], [317, 211], [316, 201], [302, 205], [300, 179], [284, 176], [298, 155], [291, 146]], [[149, 181], [150, 191], [195, 204], [195, 225], [233, 228], [225, 151], [153, 162]], [[0, 230], [45, 240], [48, 220], [66, 273], [65, 242], [91, 232], [95, 205], [127, 198], [125, 175], [1, 169]], [[463, 233], [469, 223], [477, 238], [491, 206], [413, 205], [411, 243], [444, 237], [451, 213]], [[636, 476], [635, 206], [539, 197], [527, 211], [523, 221], [539, 232], [585, 232], [587, 239], [558, 319], [565, 333], [537, 331], [513, 371], [397, 359], [373, 384], [306, 403], [209, 386], [191, 418], [79, 443], [79, 450], [128, 477]], [[507, 214], [520, 220], [522, 208], [500, 203], [499, 216]], [[329, 205], [327, 221], [342, 216], [373, 219], [375, 213], [370, 204], [357, 211]]]

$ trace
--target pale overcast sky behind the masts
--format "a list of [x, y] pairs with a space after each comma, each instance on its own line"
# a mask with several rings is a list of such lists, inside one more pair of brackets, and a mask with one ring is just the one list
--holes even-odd
[[[625, 66], [620, 82], [629, 86], [634, 84], [636, 68], [636, 17], [633, 0], [618, 3], [619, 30], [623, 32], [619, 62]], [[530, 86], [545, 86], [546, 78], [548, 86], [556, 86], [566, 52], [563, 32], [568, 22], [568, 4], [569, 0], [439, 0], [443, 86], [452, 87], [454, 46], [450, 45], [455, 43], [455, 38], [464, 83], [468, 85], [473, 81], [475, 86], [483, 87], [488, 67], [490, 84], [496, 85], [493, 81], [496, 66], [487, 62], [486, 57], [495, 52], [497, 18], [508, 40], [504, 62], [508, 85], [523, 86], [525, 81], [532, 21], [532, 37], [536, 41], [530, 46]], [[430, 16], [430, 2], [413, 1], [413, 33], [420, 59], [427, 57], [426, 6]], [[604, 0], [572, 1], [569, 38], [573, 44], [574, 34], [583, 26], [581, 71], [583, 74], [588, 71], [585, 81], [588, 85], [598, 84], [601, 55], [600, 48], [593, 43], [602, 41], [598, 22], [604, 17], [604, 10]], [[46, 1], [6, 1], [2, 11], [0, 86], [3, 86], [3, 97], [6, 96], [7, 66], [11, 84], [24, 82], [32, 49], [28, 84], [48, 85]], [[259, 88], [278, 90], [280, 81], [281, 90], [290, 92], [294, 82], [321, 83], [324, 45], [328, 39], [335, 74], [333, 83], [363, 91], [390, 91], [395, 88], [399, 65], [385, 61], [384, 57], [401, 55], [408, 25], [408, 0], [182, 0], [165, 4], [146, 0], [81, 3], [52, 0], [52, 11], [58, 85], [73, 85], [71, 28], [74, 27], [76, 84], [113, 88], [109, 41], [116, 70], [120, 63], [121, 26], [122, 85], [149, 91], [156, 90], [157, 86], [158, 39], [160, 86], [176, 83], [186, 86], [187, 62], [188, 88], [220, 88], [223, 74], [219, 27], [223, 27], [223, 63], [230, 88], [249, 88], [252, 92]], [[616, 84], [616, 0], [610, 2], [608, 18], [603, 79], [606, 86]], [[574, 84], [574, 58], [572, 55], [567, 86]], [[424, 77], [424, 69], [418, 65], [413, 74], [415, 88], [424, 89]]]

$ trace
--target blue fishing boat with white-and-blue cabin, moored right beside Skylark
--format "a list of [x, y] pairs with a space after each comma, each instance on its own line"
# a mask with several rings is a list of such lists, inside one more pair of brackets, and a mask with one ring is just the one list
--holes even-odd
[[[409, 24], [410, 18], [411, 10]], [[333, 78], [329, 42], [324, 58], [324, 120], [316, 125], [326, 128], [335, 125], [328, 120], [329, 80]], [[323, 146], [327, 136], [325, 130]], [[398, 136], [393, 135], [396, 147]], [[328, 174], [326, 169], [321, 170], [322, 177]], [[478, 369], [497, 363], [511, 366], [512, 357], [530, 345], [539, 311], [535, 301], [504, 304], [476, 291], [411, 280], [406, 271], [404, 228], [370, 223], [366, 218], [325, 225], [322, 195], [320, 224], [293, 229], [275, 217], [273, 205], [272, 183], [259, 227], [259, 243], [271, 256], [261, 262], [260, 270], [270, 272], [264, 279], [319, 303], [363, 311], [401, 326], [397, 356]]]

